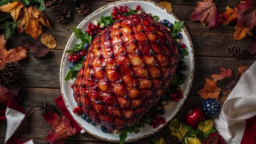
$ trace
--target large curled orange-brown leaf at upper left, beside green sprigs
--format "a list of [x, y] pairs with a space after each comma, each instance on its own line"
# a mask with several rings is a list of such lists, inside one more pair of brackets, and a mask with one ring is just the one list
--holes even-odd
[[51, 29], [49, 20], [46, 18], [45, 14], [34, 7], [24, 8], [17, 21], [20, 22], [18, 25], [19, 33], [25, 31], [26, 34], [34, 39], [37, 39], [42, 33], [42, 27], [39, 25], [39, 21], [44, 26]]

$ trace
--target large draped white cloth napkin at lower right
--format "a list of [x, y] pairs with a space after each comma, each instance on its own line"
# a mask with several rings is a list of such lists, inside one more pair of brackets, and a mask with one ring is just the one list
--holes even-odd
[[[243, 74], [214, 119], [214, 127], [226, 143], [241, 143], [246, 119], [256, 115], [256, 61]], [[256, 131], [256, 129], [255, 129]], [[255, 140], [255, 138], [254, 138]], [[252, 141], [256, 143], [256, 141]]]

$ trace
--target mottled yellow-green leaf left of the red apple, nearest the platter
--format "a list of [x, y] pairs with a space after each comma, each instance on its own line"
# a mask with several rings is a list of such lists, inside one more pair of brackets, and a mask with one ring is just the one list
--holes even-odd
[[177, 136], [180, 141], [188, 131], [187, 126], [184, 123], [180, 123], [178, 119], [172, 119], [169, 123], [169, 129], [171, 130], [171, 135]]

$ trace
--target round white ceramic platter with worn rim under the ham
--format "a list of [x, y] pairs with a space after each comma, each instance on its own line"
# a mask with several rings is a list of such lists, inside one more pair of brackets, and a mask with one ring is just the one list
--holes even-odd
[[[96, 10], [94, 13], [86, 17], [79, 25], [78, 28], [81, 28], [83, 31], [85, 31], [87, 25], [89, 22], [98, 21], [100, 17], [107, 16], [111, 13], [113, 7], [119, 7], [119, 6], [126, 5], [130, 9], [135, 9], [136, 5], [141, 5], [141, 10], [145, 11], [146, 13], [152, 13], [153, 15], [158, 15], [160, 20], [167, 19], [170, 22], [174, 23], [174, 21], [179, 21], [178, 18], [171, 13], [171, 11], [166, 10], [165, 8], [160, 7], [158, 4], [151, 2], [151, 1], [143, 1], [143, 0], [125, 0], [125, 1], [119, 1], [114, 2], [108, 5], [105, 5], [104, 7]], [[188, 97], [188, 93], [191, 87], [191, 83], [193, 80], [193, 74], [194, 74], [194, 51], [193, 51], [193, 45], [191, 43], [191, 39], [189, 37], [189, 34], [187, 32], [187, 29], [183, 27], [182, 29], [182, 43], [187, 45], [189, 55], [185, 58], [185, 62], [188, 66], [188, 69], [184, 71], [185, 75], [187, 75], [187, 79], [185, 83], [181, 86], [181, 89], [184, 94], [184, 98], [179, 100], [177, 103], [171, 102], [170, 105], [168, 105], [168, 108], [166, 109], [165, 115], [163, 117], [166, 118], [167, 124], [181, 109], [182, 104], [184, 103], [185, 99]], [[74, 33], [71, 35], [71, 38], [68, 40], [66, 50], [73, 49], [74, 45], [79, 44], [80, 40], [78, 40]], [[61, 93], [62, 97], [65, 101], [65, 104], [67, 106], [68, 111], [71, 113], [72, 117], [77, 121], [77, 123], [89, 134], [98, 137], [99, 139], [106, 140], [106, 141], [112, 141], [112, 142], [119, 142], [119, 136], [118, 134], [109, 134], [109, 133], [103, 133], [100, 130], [101, 125], [97, 125], [94, 127], [90, 123], [85, 122], [80, 116], [76, 115], [72, 112], [74, 107], [77, 107], [77, 103], [75, 103], [75, 100], [73, 98], [73, 89], [71, 89], [71, 84], [73, 81], [65, 81], [65, 77], [69, 70], [69, 61], [67, 57], [69, 56], [69, 53], [63, 53], [62, 61], [61, 61], [61, 67], [60, 67], [60, 86], [61, 86]], [[148, 124], [145, 125], [144, 128], [141, 128], [138, 134], [128, 134], [126, 141], [135, 141], [142, 139], [143, 137], [149, 136], [154, 134], [156, 131], [160, 130], [164, 127], [164, 125], [160, 125], [158, 128], [154, 129], [153, 127], [150, 127]]]

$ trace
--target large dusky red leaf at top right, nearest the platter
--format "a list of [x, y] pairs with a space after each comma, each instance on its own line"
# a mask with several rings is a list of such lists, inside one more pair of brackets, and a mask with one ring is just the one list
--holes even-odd
[[205, 2], [196, 2], [197, 7], [195, 11], [191, 14], [190, 20], [197, 21], [200, 20], [202, 25], [209, 23], [208, 28], [213, 29], [219, 25], [220, 16], [215, 3], [212, 0]]

